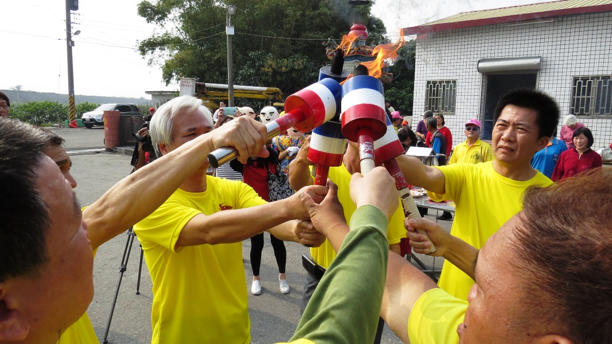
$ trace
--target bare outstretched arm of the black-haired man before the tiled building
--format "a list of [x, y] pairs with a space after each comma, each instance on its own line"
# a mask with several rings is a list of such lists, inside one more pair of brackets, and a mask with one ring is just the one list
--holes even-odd
[[444, 193], [444, 174], [440, 170], [426, 166], [416, 157], [408, 155], [399, 155], [395, 159], [408, 184], [424, 187], [431, 192]]

